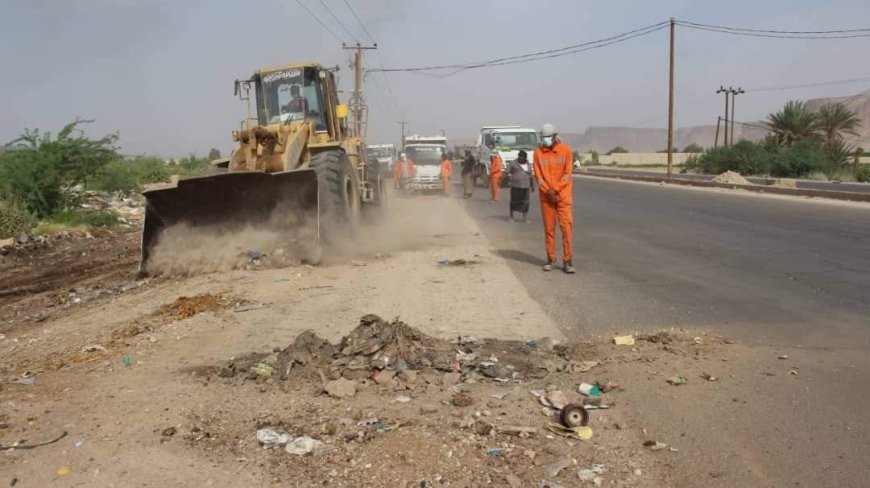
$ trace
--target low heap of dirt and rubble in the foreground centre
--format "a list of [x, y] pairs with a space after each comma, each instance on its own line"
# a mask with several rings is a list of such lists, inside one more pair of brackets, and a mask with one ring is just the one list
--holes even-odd
[[377, 315], [365, 315], [338, 344], [308, 330], [284, 349], [235, 359], [220, 371], [223, 377], [241, 373], [254, 380], [316, 373], [328, 393], [329, 381], [348, 384], [373, 380], [384, 385], [417, 372], [441, 372], [454, 378], [453, 383], [460, 379], [508, 382], [540, 379], [562, 371], [586, 372], [596, 364], [572, 359], [568, 347], [548, 338], [522, 343], [460, 336], [449, 341], [427, 336], [398, 319], [388, 322]]

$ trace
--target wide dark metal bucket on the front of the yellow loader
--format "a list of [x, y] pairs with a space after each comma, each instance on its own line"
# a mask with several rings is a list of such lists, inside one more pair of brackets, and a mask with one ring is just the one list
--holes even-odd
[[174, 188], [143, 193], [146, 200], [139, 272], [147, 273], [148, 260], [161, 236], [176, 225], [195, 232], [217, 229], [232, 233], [246, 227], [269, 228], [290, 235], [299, 226], [310, 227], [319, 246], [317, 176], [302, 169], [280, 173], [227, 172], [183, 179]]

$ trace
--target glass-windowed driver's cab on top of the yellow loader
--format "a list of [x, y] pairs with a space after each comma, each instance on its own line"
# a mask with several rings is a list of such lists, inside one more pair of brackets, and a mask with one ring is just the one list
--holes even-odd
[[259, 125], [314, 122], [317, 132], [339, 132], [332, 72], [316, 65], [261, 70], [254, 77]]

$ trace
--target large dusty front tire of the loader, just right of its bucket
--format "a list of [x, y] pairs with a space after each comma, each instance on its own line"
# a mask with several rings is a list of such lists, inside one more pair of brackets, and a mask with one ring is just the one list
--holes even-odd
[[354, 230], [360, 220], [360, 185], [347, 154], [337, 149], [315, 153], [311, 168], [317, 174], [324, 238], [328, 241], [342, 228]]

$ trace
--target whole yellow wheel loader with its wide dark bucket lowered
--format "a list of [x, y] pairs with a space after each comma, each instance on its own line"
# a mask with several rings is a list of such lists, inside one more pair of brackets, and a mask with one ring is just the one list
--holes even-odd
[[304, 227], [306, 258], [317, 262], [322, 241], [358, 226], [363, 204], [383, 204], [378, 163], [366, 161], [361, 135], [348, 127], [347, 106], [339, 103], [337, 70], [300, 63], [236, 80], [248, 117], [232, 132], [238, 145], [231, 157], [214, 161], [210, 174], [143, 193], [140, 273], [148, 273], [161, 238], [178, 225], [224, 234], [255, 227], [299, 235]]

